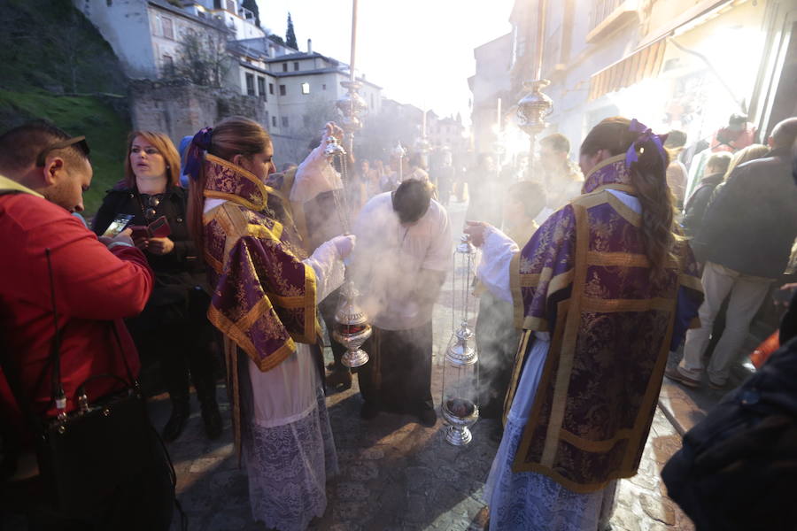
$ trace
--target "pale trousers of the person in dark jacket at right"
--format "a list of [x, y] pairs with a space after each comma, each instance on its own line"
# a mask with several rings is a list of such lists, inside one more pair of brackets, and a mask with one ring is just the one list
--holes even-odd
[[725, 330], [708, 363], [709, 381], [723, 385], [731, 372], [731, 362], [745, 342], [750, 321], [767, 296], [772, 281], [707, 262], [701, 279], [706, 298], [698, 312], [700, 328], [686, 333], [684, 359], [678, 364], [678, 370], [689, 378], [700, 380], [703, 352], [711, 340], [714, 319], [723, 301], [730, 295], [725, 314]]

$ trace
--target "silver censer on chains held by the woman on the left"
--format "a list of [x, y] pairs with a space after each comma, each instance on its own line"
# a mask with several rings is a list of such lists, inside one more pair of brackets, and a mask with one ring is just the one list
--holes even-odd
[[[344, 147], [337, 142], [337, 138], [330, 135], [327, 138], [324, 155], [326, 155], [329, 164], [337, 165], [340, 169], [344, 192], [341, 194], [340, 190], [335, 190], [333, 196], [344, 234], [349, 234], [351, 232], [351, 222], [349, 220], [349, 205], [345, 194], [345, 186], [348, 181], [348, 154]], [[368, 316], [357, 304], [358, 295], [354, 282], [352, 279], [347, 278], [340, 291], [340, 304], [338, 304], [335, 312], [335, 329], [332, 331], [332, 338], [346, 348], [346, 352], [340, 361], [344, 366], [350, 368], [368, 363], [368, 354], [360, 347], [371, 336]]]

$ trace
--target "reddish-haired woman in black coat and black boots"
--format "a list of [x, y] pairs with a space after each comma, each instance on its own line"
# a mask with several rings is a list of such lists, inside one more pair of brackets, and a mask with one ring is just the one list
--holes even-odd
[[168, 136], [135, 131], [129, 137], [125, 179], [108, 191], [93, 223], [94, 232], [102, 235], [120, 215], [132, 216], [128, 227], [146, 227], [161, 217], [168, 222], [168, 235], [134, 231], [135, 245], [155, 272], [155, 287], [142, 314], [128, 319], [139, 352], [160, 360], [172, 401], [163, 429], [166, 441], [179, 437], [189, 419], [189, 373], [208, 437], [221, 435], [222, 427], [213, 375], [218, 347], [205, 316], [210, 298], [188, 232], [187, 198], [180, 187], [180, 157]]

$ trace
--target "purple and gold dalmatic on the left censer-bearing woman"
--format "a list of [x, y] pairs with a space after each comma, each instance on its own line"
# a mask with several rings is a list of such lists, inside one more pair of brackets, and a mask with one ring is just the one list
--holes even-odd
[[[292, 174], [290, 175], [292, 177]], [[236, 349], [261, 371], [282, 363], [296, 342], [315, 343], [316, 279], [281, 189], [213, 155], [205, 156], [205, 198], [226, 203], [205, 212], [205, 261], [213, 288], [207, 317], [225, 335], [236, 444], [240, 440]], [[292, 180], [291, 180], [292, 181]], [[269, 181], [271, 182], [271, 181]]]

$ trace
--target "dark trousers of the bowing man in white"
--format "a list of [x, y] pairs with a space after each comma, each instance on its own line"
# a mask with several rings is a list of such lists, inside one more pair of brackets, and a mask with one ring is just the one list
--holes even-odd
[[431, 321], [408, 330], [373, 328], [362, 346], [370, 360], [357, 369], [366, 402], [390, 412], [434, 409], [431, 396]]

